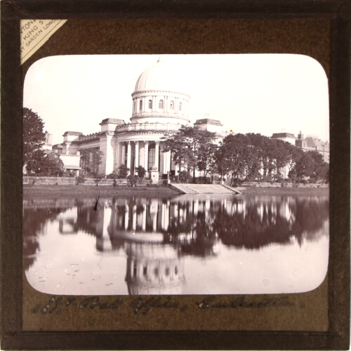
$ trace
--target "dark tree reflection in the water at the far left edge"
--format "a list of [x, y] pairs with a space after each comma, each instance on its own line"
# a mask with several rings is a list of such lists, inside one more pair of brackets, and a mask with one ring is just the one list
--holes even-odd
[[31, 267], [39, 251], [37, 236], [42, 234], [45, 223], [55, 220], [62, 208], [25, 208], [23, 211], [23, 257], [25, 270]]

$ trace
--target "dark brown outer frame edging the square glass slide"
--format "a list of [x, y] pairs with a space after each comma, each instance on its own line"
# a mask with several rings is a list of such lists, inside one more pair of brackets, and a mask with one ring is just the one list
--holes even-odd
[[[348, 350], [350, 340], [350, 14], [351, 3], [344, 0], [1, 1], [1, 349]], [[108, 326], [104, 329], [105, 331], [94, 332], [22, 331], [22, 82], [24, 73], [35, 60], [45, 55], [69, 54], [68, 46], [65, 45], [62, 45], [59, 53], [56, 52], [55, 48], [51, 48], [49, 39], [21, 67], [20, 19], [32, 18], [122, 21], [160, 18], [162, 20], [239, 19], [244, 21], [277, 19], [281, 21], [279, 23], [282, 27], [284, 27], [284, 20], [329, 20], [331, 220], [327, 276], [328, 331], [287, 332], [279, 331], [279, 328], [277, 331], [110, 331]], [[64, 30], [68, 24], [69, 22], [59, 31]], [[191, 37], [189, 33], [185, 34], [185, 37]], [[47, 50], [50, 53], [46, 52]], [[102, 53], [99, 50], [100, 48], [96, 46], [91, 48], [94, 53]], [[153, 50], [159, 53], [162, 51], [162, 46], [154, 47]], [[206, 52], [208, 51], [204, 49], [203, 53]], [[211, 53], [217, 52], [223, 51], [220, 51], [220, 48], [217, 50], [214, 45]], [[124, 53], [127, 52], [124, 51]], [[152, 52], [144, 47], [132, 46], [130, 53]], [[176, 53], [189, 52], [184, 50]]]

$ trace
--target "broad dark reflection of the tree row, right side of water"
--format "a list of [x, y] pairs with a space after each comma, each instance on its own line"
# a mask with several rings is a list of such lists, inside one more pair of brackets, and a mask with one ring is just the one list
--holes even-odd
[[299, 199], [257, 201], [246, 204], [244, 212], [228, 213], [224, 208], [216, 214], [218, 236], [225, 245], [259, 249], [269, 244], [284, 244], [296, 237], [315, 239], [329, 218], [329, 200]]

